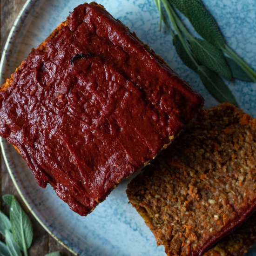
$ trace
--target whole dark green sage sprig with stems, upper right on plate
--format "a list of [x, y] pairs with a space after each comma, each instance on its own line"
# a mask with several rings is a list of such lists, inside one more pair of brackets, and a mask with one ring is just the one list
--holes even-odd
[[[217, 101], [229, 101], [238, 107], [234, 95], [222, 78], [229, 81], [256, 81], [256, 73], [227, 46], [216, 20], [204, 7], [202, 0], [155, 2], [160, 19], [171, 32], [173, 45], [184, 64], [199, 74], [202, 83]], [[162, 6], [169, 19], [162, 12]], [[191, 34], [176, 9], [189, 19], [202, 38], [196, 38]]]

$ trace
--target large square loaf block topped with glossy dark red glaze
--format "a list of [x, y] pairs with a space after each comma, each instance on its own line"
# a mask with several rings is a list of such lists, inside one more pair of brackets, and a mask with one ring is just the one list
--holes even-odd
[[87, 215], [189, 123], [203, 99], [96, 3], [74, 9], [0, 92], [0, 135], [41, 187]]

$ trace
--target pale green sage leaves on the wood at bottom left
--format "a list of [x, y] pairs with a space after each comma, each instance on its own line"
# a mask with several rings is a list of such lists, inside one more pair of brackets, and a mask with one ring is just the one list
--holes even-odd
[[[31, 221], [14, 195], [7, 194], [2, 198], [10, 206], [10, 219], [0, 211], [0, 233], [5, 236], [5, 243], [0, 242], [0, 255], [28, 256], [27, 250], [33, 240]], [[58, 251], [47, 254], [47, 256], [60, 255]]]

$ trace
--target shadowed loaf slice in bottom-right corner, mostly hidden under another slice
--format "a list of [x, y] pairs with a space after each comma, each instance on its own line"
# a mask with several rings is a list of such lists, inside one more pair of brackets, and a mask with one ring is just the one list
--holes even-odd
[[256, 243], [256, 213], [246, 220], [241, 227], [209, 249], [204, 256], [242, 256]]

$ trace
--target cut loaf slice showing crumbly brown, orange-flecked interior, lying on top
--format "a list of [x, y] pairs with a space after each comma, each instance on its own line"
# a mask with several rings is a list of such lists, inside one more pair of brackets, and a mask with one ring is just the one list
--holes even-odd
[[203, 110], [127, 193], [168, 255], [203, 255], [256, 209], [256, 119]]

